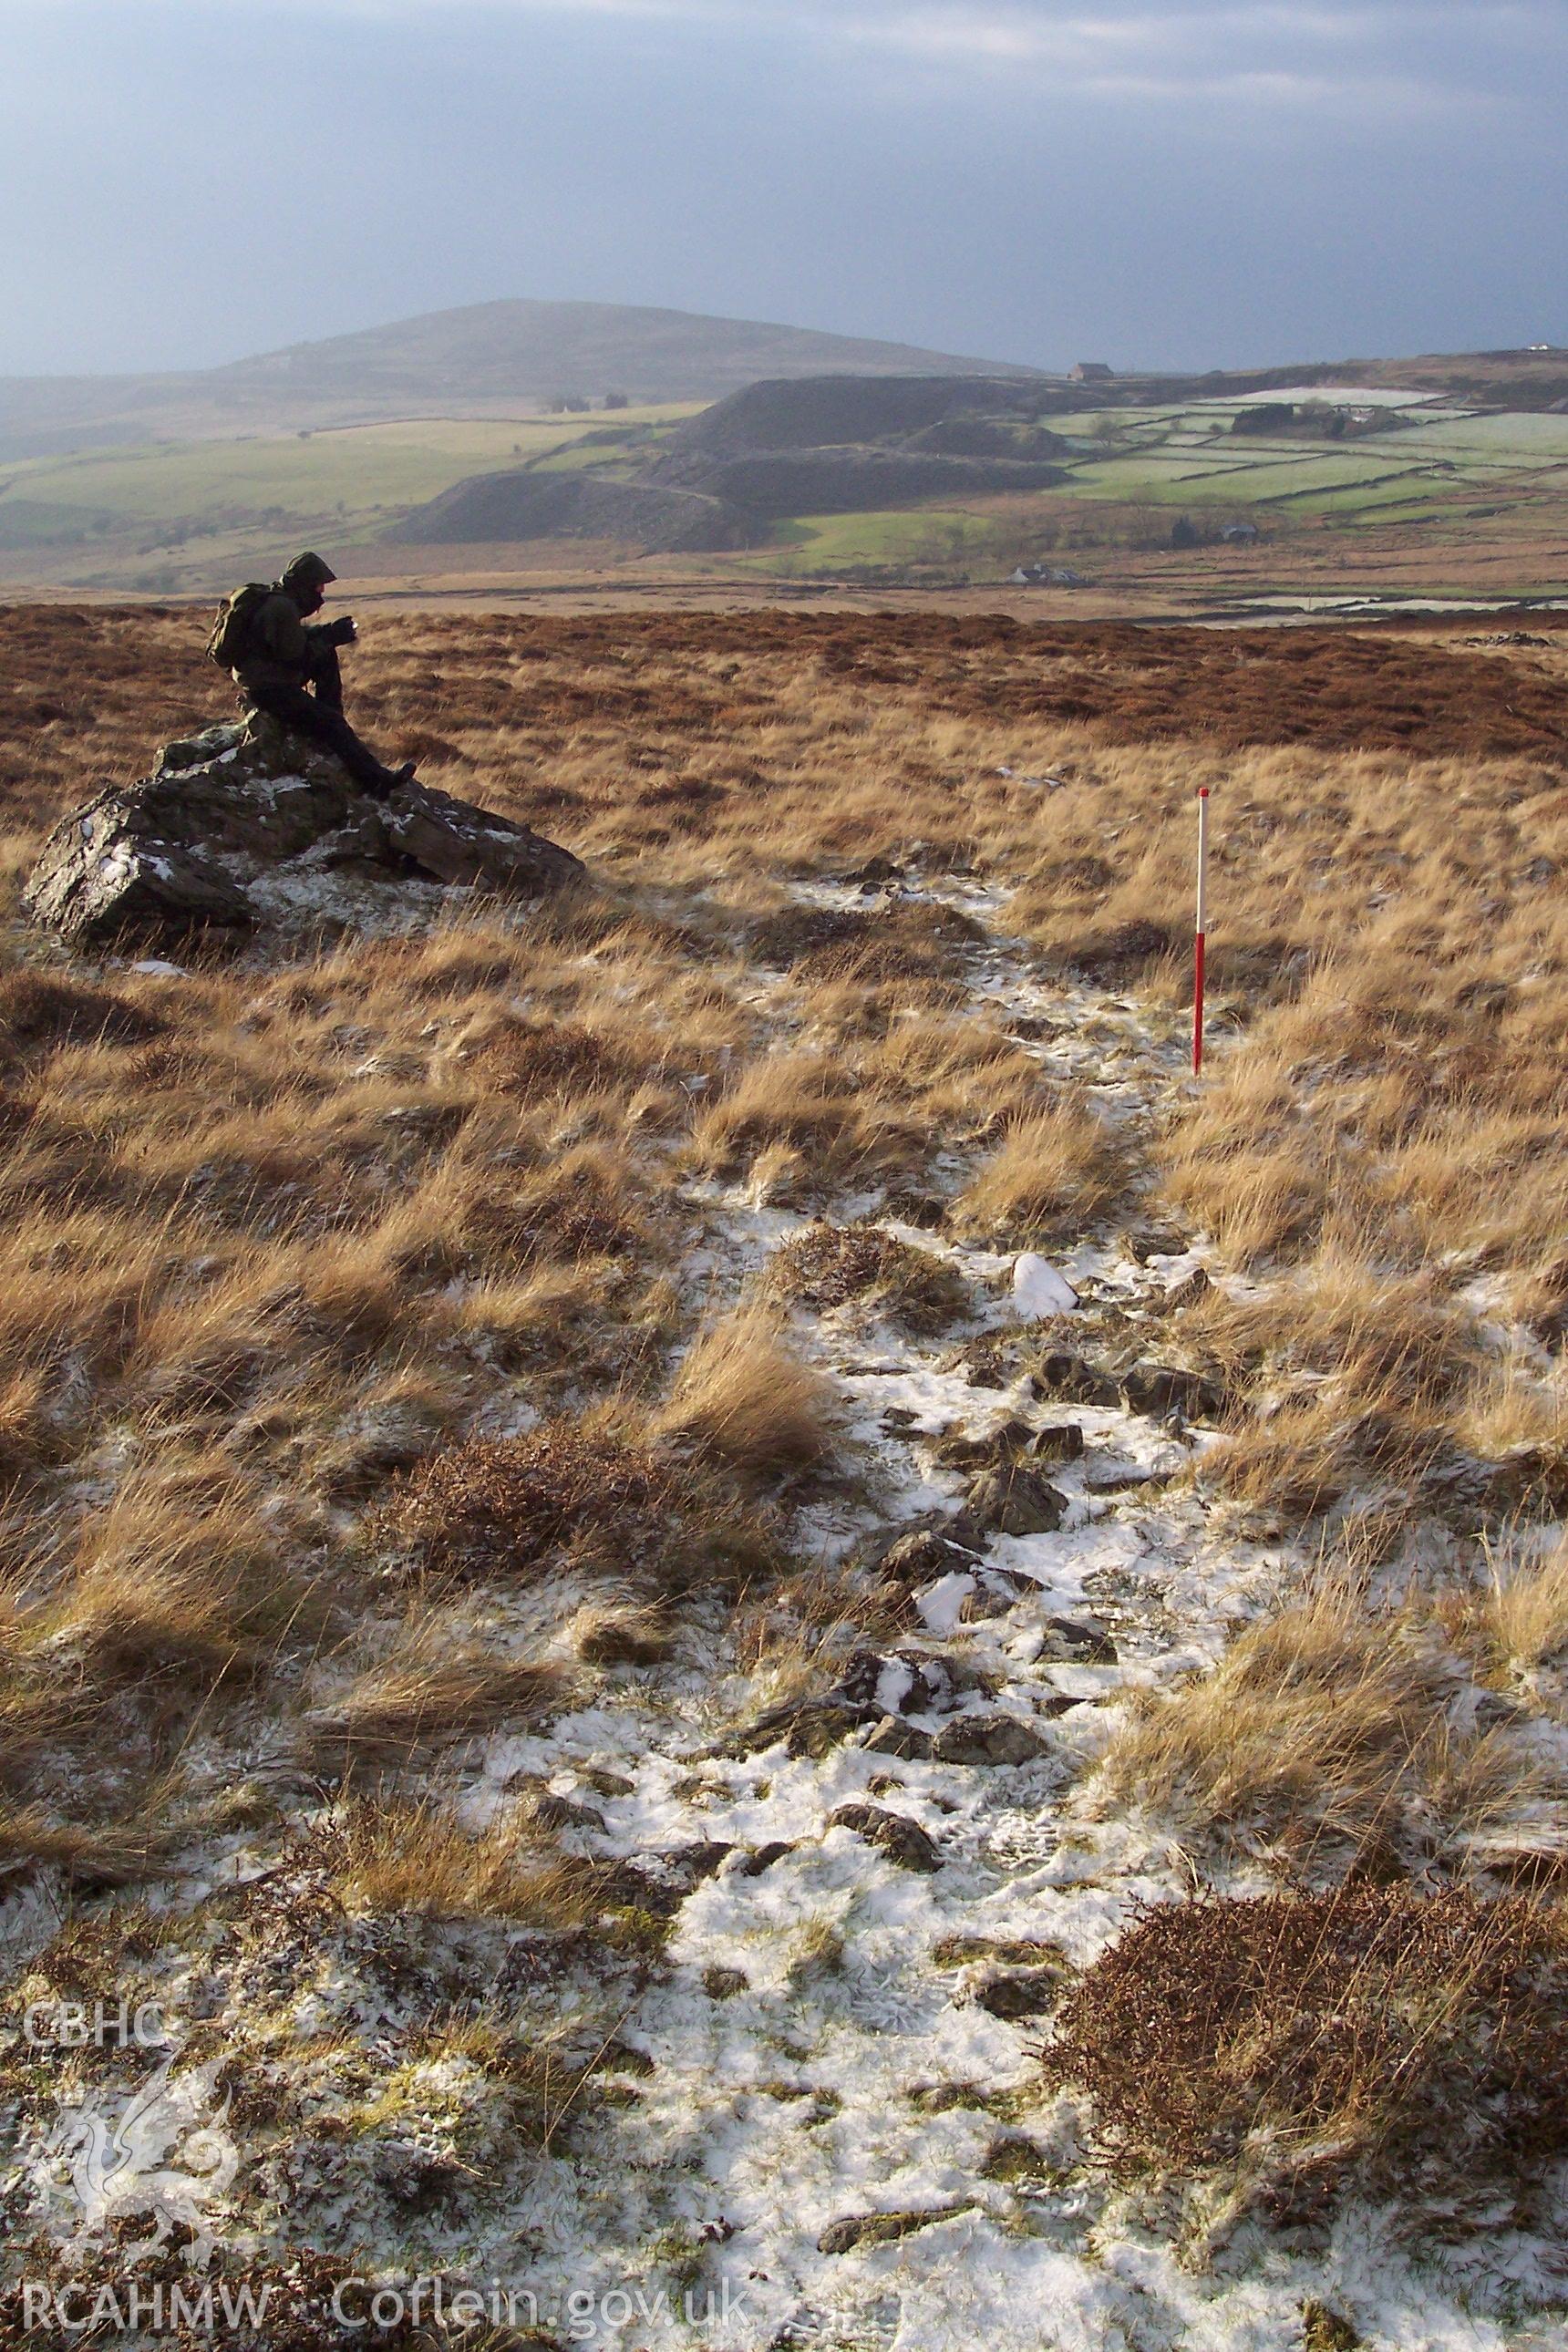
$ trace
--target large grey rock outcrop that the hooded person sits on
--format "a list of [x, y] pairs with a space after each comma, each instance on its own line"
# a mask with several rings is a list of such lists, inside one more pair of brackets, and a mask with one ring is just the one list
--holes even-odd
[[583, 866], [527, 826], [423, 783], [364, 795], [273, 720], [167, 743], [141, 783], [61, 818], [24, 908], [71, 943], [386, 920], [421, 887], [541, 898]]

